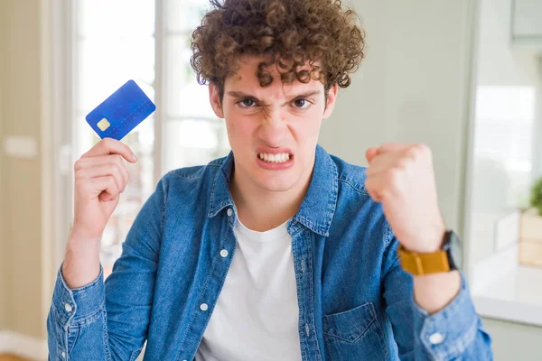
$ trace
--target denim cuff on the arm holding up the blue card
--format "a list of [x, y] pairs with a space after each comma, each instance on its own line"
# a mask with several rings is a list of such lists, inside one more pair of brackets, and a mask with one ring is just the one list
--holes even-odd
[[100, 266], [98, 277], [89, 284], [71, 290], [59, 269], [54, 286], [52, 304], [55, 319], [62, 326], [78, 324], [96, 315], [105, 303], [103, 269]]

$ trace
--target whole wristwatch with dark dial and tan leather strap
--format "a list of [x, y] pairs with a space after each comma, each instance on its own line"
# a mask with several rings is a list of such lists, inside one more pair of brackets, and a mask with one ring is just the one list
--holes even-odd
[[437, 252], [418, 254], [406, 250], [403, 245], [397, 248], [403, 269], [413, 275], [443, 273], [458, 270], [463, 263], [463, 250], [459, 236], [449, 229], [444, 234], [443, 245]]

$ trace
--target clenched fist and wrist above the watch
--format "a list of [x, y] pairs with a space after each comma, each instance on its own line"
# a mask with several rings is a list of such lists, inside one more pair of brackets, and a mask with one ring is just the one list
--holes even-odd
[[438, 207], [433, 156], [424, 144], [385, 143], [365, 154], [365, 188], [382, 204], [397, 240], [411, 252], [440, 249], [446, 227]]

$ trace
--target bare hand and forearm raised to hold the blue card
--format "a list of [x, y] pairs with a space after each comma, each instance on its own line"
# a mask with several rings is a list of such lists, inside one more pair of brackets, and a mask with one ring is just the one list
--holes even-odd
[[137, 161], [132, 150], [104, 138], [75, 162], [73, 226], [62, 264], [64, 280], [71, 289], [98, 276], [101, 236], [130, 178], [125, 161]]

